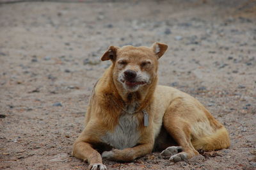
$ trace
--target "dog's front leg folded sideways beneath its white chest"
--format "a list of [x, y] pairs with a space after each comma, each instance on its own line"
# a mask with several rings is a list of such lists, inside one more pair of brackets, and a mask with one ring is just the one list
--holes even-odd
[[125, 148], [124, 150], [111, 150], [104, 151], [102, 158], [108, 160], [124, 161], [129, 162], [135, 158], [142, 157], [148, 153], [151, 153], [153, 149], [153, 143], [150, 144], [139, 144], [133, 148]]

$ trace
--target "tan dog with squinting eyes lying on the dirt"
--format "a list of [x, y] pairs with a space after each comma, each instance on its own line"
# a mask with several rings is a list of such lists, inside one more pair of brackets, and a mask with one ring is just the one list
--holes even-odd
[[72, 152], [88, 161], [89, 169], [106, 169], [102, 158], [131, 161], [154, 148], [166, 149], [161, 155], [177, 162], [199, 155], [196, 150], [230, 146], [226, 128], [198, 100], [157, 86], [158, 59], [166, 49], [163, 43], [111, 46], [102, 56], [113, 64], [93, 89], [85, 128]]

